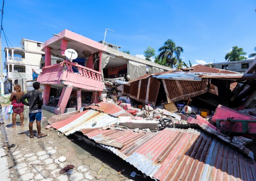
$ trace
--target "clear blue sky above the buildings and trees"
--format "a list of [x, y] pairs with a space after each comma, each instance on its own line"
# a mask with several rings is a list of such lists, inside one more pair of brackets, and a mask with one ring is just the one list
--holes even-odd
[[[192, 64], [224, 62], [232, 46], [247, 55], [256, 47], [256, 1], [34, 1], [8, 0], [3, 26], [14, 47], [21, 38], [45, 42], [63, 29], [107, 42], [143, 56], [165, 40], [184, 48], [182, 60]], [[6, 47], [2, 37], [2, 49]], [[4, 62], [4, 60], [3, 60]]]

